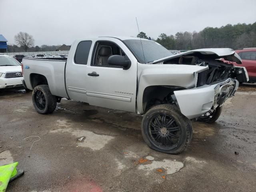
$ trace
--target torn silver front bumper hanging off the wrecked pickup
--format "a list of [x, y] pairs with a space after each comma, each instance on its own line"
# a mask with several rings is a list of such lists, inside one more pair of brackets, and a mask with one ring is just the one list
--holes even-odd
[[238, 80], [228, 78], [211, 85], [174, 91], [180, 111], [189, 119], [198, 118], [211, 108], [222, 106], [238, 89]]

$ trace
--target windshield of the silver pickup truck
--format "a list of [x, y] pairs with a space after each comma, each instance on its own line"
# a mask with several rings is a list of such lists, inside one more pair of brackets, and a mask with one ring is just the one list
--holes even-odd
[[142, 46], [139, 39], [128, 39], [124, 40], [124, 42], [130, 48], [130, 50], [140, 63], [148, 63], [173, 55], [168, 49], [164, 48], [162, 45], [155, 41], [141, 40], [145, 56], [144, 60]]

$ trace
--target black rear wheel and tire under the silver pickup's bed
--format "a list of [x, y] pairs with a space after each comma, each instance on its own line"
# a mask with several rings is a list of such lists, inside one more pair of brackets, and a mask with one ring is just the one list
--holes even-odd
[[32, 102], [40, 114], [52, 113], [57, 105], [56, 96], [51, 94], [48, 85], [38, 85], [33, 89]]

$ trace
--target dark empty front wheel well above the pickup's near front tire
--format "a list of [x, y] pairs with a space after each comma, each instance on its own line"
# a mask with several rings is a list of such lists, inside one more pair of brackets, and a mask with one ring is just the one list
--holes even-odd
[[158, 104], [176, 104], [172, 95], [174, 91], [184, 90], [179, 86], [148, 86], [143, 92], [142, 107], [146, 112], [149, 108]]

